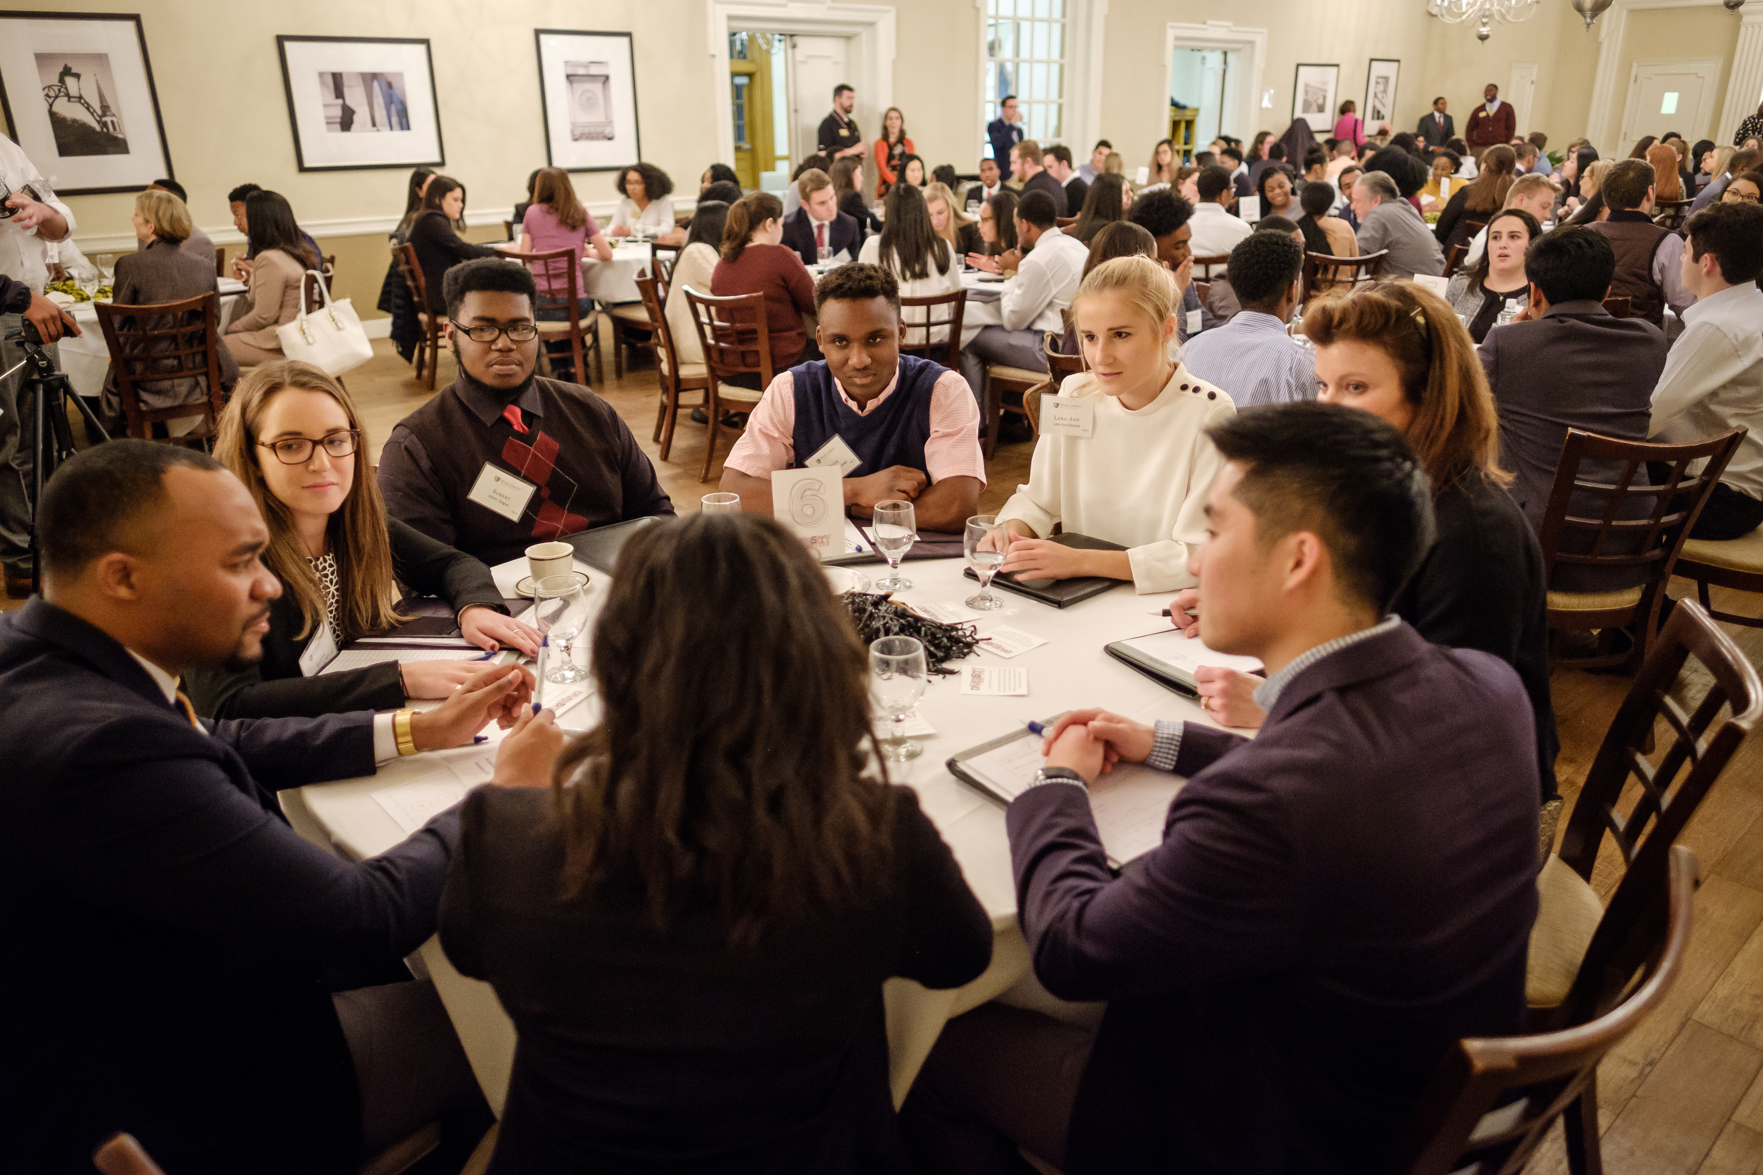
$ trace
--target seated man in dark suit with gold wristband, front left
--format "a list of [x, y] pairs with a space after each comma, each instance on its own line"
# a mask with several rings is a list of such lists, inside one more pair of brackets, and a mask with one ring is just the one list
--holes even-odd
[[39, 521], [44, 594], [0, 620], [0, 1170], [90, 1171], [120, 1129], [180, 1175], [340, 1175], [483, 1112], [434, 990], [377, 974], [434, 934], [458, 809], [351, 863], [275, 791], [517, 706], [497, 780], [539, 782], [561, 738], [531, 678], [487, 668], [428, 713], [201, 722], [178, 675], [259, 655], [280, 592], [250, 491], [113, 440], [56, 472]]

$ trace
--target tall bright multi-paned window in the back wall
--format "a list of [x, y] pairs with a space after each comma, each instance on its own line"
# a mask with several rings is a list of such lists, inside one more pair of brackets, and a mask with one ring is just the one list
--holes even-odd
[[[986, 0], [984, 118], [998, 118], [1015, 95], [1023, 136], [1040, 143], [1065, 137], [1068, 16], [1075, 0]], [[991, 143], [986, 144], [991, 155]], [[1001, 160], [1000, 160], [1001, 162]]]

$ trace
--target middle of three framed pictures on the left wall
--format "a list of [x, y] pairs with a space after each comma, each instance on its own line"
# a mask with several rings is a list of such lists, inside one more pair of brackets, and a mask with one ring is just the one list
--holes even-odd
[[300, 171], [446, 162], [428, 41], [277, 37]]

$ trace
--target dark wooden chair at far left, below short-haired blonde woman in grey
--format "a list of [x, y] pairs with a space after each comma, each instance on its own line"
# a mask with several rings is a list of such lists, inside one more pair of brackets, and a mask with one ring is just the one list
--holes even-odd
[[[129, 435], [150, 440], [153, 425], [199, 416], [206, 421], [206, 430], [199, 435], [212, 437], [226, 409], [220, 389], [220, 294], [208, 291], [183, 301], [146, 307], [99, 301], [92, 308], [111, 352], [111, 372], [116, 373], [116, 395], [129, 421]], [[206, 381], [205, 398], [169, 409], [141, 407], [143, 391], [192, 379]]]

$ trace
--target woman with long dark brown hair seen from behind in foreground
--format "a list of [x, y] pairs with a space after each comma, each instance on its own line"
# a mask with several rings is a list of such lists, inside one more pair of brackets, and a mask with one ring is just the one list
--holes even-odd
[[904, 1175], [882, 983], [968, 983], [993, 928], [820, 567], [756, 514], [640, 530], [594, 680], [550, 794], [467, 800], [441, 900], [520, 1032], [495, 1170]]

